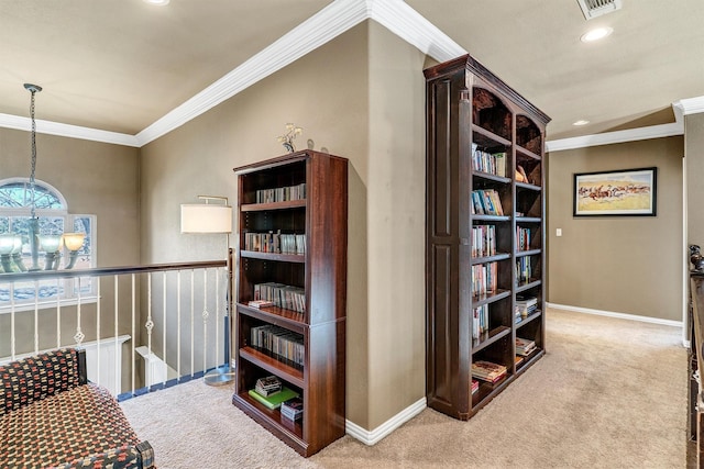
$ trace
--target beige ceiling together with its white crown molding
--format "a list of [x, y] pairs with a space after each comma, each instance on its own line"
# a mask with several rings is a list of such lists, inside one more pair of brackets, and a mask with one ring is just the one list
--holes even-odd
[[[591, 21], [576, 0], [2, 0], [0, 125], [26, 129], [33, 82], [41, 132], [140, 146], [366, 19], [438, 60], [469, 52], [552, 118], [550, 141], [674, 122], [704, 96], [702, 0]], [[613, 35], [581, 43], [597, 25]]]

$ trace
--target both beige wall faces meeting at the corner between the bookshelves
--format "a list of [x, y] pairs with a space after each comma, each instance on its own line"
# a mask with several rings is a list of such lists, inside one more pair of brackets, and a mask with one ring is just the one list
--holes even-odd
[[143, 148], [145, 263], [222, 258], [178, 205], [235, 204], [232, 168], [280, 155], [286, 122], [350, 159], [346, 417], [366, 429], [425, 397], [425, 59], [365, 22]]

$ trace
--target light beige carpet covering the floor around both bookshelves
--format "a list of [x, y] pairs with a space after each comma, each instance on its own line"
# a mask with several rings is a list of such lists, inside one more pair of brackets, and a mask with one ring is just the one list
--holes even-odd
[[426, 409], [375, 446], [308, 459], [201, 381], [122, 403], [167, 468], [685, 468], [675, 327], [549, 311], [547, 355], [469, 422]]

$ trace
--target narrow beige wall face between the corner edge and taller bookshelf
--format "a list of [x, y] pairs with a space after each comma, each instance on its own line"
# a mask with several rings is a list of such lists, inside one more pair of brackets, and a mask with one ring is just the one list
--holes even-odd
[[426, 395], [425, 55], [370, 23], [369, 428]]

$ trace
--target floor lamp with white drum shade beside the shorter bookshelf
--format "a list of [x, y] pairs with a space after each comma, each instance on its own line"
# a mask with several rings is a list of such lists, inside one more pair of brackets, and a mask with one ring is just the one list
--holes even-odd
[[[232, 206], [228, 205], [227, 197], [198, 196], [205, 203], [186, 203], [180, 205], [182, 233], [222, 233], [227, 237], [228, 286], [226, 289], [224, 310], [224, 360], [222, 367], [208, 371], [204, 377], [207, 384], [222, 386], [234, 380], [234, 371], [230, 366], [230, 310], [232, 306], [232, 249], [230, 248], [230, 233], [232, 233]], [[217, 203], [210, 203], [217, 201]]]

